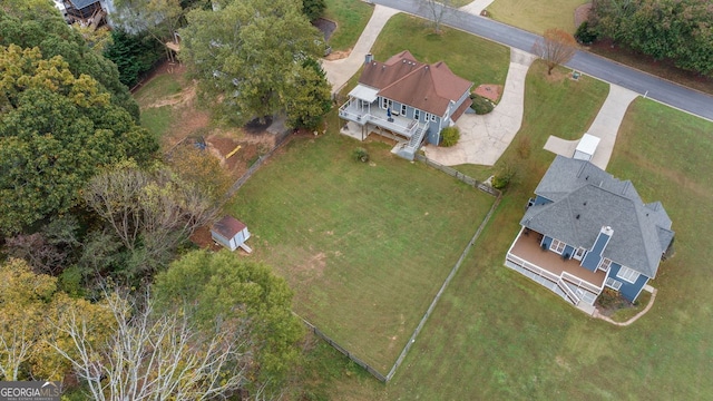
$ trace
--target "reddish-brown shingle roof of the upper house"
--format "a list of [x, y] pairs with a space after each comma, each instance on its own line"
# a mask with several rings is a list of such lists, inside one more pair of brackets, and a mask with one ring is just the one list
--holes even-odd
[[379, 89], [379, 96], [442, 116], [450, 101], [457, 101], [472, 82], [455, 75], [438, 61], [426, 65], [404, 50], [387, 62], [364, 65], [359, 84]]

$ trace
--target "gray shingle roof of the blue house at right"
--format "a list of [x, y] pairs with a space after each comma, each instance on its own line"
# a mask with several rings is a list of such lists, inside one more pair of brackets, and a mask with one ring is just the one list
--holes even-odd
[[603, 226], [614, 229], [603, 256], [654, 277], [673, 239], [660, 202], [644, 205], [629, 180], [589, 162], [557, 156], [535, 189], [551, 203], [530, 206], [521, 225], [590, 250]]

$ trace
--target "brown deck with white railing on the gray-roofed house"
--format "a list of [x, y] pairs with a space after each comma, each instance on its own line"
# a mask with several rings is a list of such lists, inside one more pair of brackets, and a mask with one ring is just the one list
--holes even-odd
[[606, 273], [588, 271], [579, 261], [564, 260], [540, 247], [541, 234], [521, 229], [506, 256], [506, 266], [557, 293], [565, 301], [593, 305], [604, 288]]

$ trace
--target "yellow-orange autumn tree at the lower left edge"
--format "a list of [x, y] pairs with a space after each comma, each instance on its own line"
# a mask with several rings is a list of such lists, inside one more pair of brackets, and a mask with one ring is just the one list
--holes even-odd
[[[47, 340], [66, 343], [50, 323], [72, 310], [87, 320], [92, 343], [104, 340], [110, 321], [102, 303], [71, 299], [57, 291], [57, 278], [32, 273], [21, 260], [0, 265], [0, 375], [3, 380], [61, 380], [70, 365]], [[74, 354], [74, 353], [72, 353]]]

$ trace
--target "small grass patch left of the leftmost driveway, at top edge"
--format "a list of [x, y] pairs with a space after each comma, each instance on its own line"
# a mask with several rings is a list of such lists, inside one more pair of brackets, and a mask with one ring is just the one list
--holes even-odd
[[374, 11], [373, 4], [354, 0], [325, 0], [324, 18], [336, 22], [329, 45], [332, 50], [346, 50], [354, 47]]

